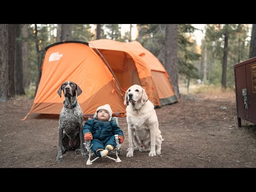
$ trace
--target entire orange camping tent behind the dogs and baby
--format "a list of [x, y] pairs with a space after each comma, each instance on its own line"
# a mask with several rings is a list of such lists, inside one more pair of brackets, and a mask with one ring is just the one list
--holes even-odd
[[[41, 79], [29, 113], [60, 114], [63, 98], [57, 91], [65, 81], [82, 89], [78, 97], [85, 117], [108, 103], [113, 116], [125, 116], [125, 91], [138, 84], [155, 107], [178, 102], [162, 63], [139, 42], [99, 39], [89, 43], [63, 41], [45, 48]], [[26, 119], [27, 116], [23, 119]]]

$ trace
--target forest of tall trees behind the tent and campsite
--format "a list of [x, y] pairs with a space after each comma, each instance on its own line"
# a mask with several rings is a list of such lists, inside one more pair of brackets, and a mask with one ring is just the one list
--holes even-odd
[[34, 98], [46, 46], [63, 41], [135, 40], [161, 61], [175, 91], [191, 84], [235, 90], [234, 65], [256, 57], [255, 24], [206, 24], [197, 44], [191, 24], [0, 24], [0, 101]]

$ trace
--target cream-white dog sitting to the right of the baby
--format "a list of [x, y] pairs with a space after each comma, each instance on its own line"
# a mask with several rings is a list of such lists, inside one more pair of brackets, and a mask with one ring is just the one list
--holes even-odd
[[[134, 150], [149, 151], [149, 156], [161, 154], [162, 135], [158, 129], [158, 120], [153, 103], [148, 100], [144, 89], [132, 85], [125, 92], [126, 121], [128, 124], [129, 148], [127, 157]], [[135, 144], [135, 146], [134, 146]]]

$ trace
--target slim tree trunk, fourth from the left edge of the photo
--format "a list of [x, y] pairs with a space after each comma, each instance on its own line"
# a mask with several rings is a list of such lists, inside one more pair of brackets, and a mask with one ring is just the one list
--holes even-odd
[[22, 27], [22, 36], [25, 38], [25, 41], [22, 42], [22, 55], [23, 55], [23, 86], [26, 89], [30, 84], [30, 73], [29, 73], [29, 60], [28, 60], [28, 24], [24, 24]]

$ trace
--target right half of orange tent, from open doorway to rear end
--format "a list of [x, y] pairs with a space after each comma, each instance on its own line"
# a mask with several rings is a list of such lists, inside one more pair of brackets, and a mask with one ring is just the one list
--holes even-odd
[[109, 63], [123, 94], [131, 85], [138, 84], [145, 89], [155, 107], [178, 101], [164, 66], [139, 42], [99, 39], [89, 42], [89, 46]]

